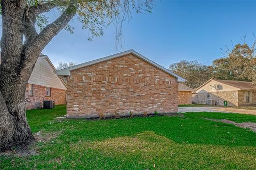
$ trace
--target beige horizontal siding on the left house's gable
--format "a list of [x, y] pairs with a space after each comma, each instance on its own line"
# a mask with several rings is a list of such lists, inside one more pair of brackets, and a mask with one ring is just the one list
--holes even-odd
[[39, 57], [28, 83], [66, 90], [66, 86], [54, 71], [47, 58]]

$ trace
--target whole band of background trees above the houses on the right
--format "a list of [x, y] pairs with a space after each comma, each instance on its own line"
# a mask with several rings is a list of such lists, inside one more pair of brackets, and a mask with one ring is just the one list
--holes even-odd
[[197, 61], [180, 61], [169, 69], [185, 78], [191, 88], [202, 85], [209, 79], [240, 80], [256, 84], [255, 45], [236, 44], [226, 56], [213, 60], [210, 66]]

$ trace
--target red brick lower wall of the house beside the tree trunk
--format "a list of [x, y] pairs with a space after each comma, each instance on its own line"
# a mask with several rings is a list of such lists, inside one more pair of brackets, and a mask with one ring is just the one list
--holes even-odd
[[43, 100], [54, 100], [55, 105], [66, 104], [66, 91], [51, 88], [51, 96], [45, 96], [45, 86], [33, 85], [33, 96], [28, 96], [28, 85], [26, 88], [26, 109], [37, 109], [43, 107]]

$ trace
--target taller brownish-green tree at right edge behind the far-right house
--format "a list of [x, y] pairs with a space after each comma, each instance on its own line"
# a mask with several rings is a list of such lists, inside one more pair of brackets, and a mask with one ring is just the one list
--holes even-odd
[[214, 75], [218, 79], [256, 82], [255, 43], [236, 44], [224, 58], [213, 61]]

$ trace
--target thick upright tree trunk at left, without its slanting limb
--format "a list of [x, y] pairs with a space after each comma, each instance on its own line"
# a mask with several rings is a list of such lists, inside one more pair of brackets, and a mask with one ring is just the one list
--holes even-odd
[[[1, 1], [0, 151], [21, 148], [35, 141], [26, 120], [25, 91], [31, 70], [22, 53], [26, 1]], [[30, 74], [29, 74], [30, 72]]]

